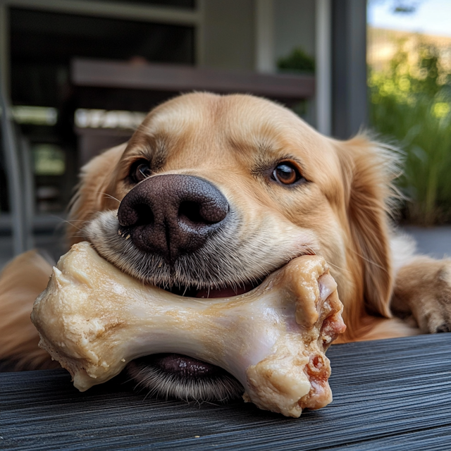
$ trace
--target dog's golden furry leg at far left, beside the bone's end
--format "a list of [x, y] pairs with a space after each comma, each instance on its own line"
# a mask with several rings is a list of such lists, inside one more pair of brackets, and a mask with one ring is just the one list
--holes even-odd
[[39, 349], [30, 314], [33, 302], [49, 282], [51, 265], [37, 251], [20, 254], [0, 275], [0, 360], [13, 369], [58, 367]]

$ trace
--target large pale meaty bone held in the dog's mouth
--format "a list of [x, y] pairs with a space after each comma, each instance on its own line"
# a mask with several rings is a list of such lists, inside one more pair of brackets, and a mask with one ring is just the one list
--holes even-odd
[[332, 400], [324, 352], [345, 330], [336, 287], [326, 262], [309, 256], [244, 295], [181, 297], [142, 285], [81, 242], [58, 261], [32, 321], [80, 391], [132, 359], [176, 352], [226, 369], [261, 409], [297, 417]]

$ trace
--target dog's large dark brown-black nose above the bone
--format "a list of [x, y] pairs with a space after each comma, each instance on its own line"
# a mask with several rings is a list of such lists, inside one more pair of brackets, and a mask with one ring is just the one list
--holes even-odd
[[[121, 202], [119, 233], [143, 252], [173, 263], [204, 245], [223, 223], [229, 206], [211, 183], [192, 175], [155, 175]], [[122, 229], [122, 230], [121, 230]]]

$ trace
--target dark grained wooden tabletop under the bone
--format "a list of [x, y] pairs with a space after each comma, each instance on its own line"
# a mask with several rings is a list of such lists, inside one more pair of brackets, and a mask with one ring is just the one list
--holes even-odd
[[79, 393], [63, 370], [0, 375], [1, 450], [451, 450], [451, 333], [335, 345], [334, 401], [299, 419], [252, 404]]

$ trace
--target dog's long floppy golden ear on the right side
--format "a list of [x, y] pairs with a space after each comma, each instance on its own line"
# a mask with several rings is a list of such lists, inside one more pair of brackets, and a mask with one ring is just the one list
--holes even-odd
[[393, 275], [388, 202], [395, 192], [396, 159], [393, 152], [364, 136], [338, 146], [351, 235], [349, 258], [361, 268], [366, 309], [390, 318]]

